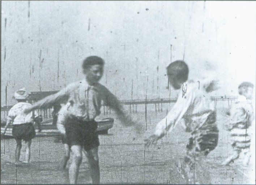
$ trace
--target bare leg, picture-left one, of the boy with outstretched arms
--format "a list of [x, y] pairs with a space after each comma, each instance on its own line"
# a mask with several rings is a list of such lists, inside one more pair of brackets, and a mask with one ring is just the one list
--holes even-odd
[[79, 167], [82, 162], [82, 146], [73, 145], [71, 146], [71, 151], [73, 153], [73, 159], [69, 167], [69, 181], [70, 184], [77, 184]]

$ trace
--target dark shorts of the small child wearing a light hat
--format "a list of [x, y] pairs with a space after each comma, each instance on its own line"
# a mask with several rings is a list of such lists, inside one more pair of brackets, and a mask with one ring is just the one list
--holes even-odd
[[13, 125], [12, 136], [15, 139], [29, 141], [35, 137], [33, 123]]

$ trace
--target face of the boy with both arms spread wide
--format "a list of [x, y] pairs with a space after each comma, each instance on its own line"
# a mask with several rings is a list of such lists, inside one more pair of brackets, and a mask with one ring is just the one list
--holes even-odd
[[102, 65], [92, 65], [88, 69], [84, 70], [85, 78], [89, 84], [95, 84], [99, 82], [103, 75]]

